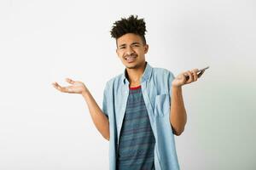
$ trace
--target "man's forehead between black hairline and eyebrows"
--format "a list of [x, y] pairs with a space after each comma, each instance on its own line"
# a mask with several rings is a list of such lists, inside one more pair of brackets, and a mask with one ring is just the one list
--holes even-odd
[[139, 43], [143, 43], [143, 40], [140, 36], [134, 34], [134, 33], [127, 33], [125, 35], [123, 35], [122, 37], [119, 37], [117, 39], [117, 44], [121, 45], [121, 44], [131, 44], [133, 42], [139, 42]]

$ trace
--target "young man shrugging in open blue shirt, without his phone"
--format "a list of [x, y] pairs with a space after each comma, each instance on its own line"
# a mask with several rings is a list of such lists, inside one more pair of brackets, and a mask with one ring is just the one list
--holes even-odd
[[96, 128], [109, 140], [111, 170], [179, 169], [174, 134], [183, 133], [187, 122], [182, 86], [197, 80], [198, 69], [174, 77], [149, 65], [145, 31], [144, 20], [133, 15], [113, 24], [111, 35], [125, 71], [107, 82], [102, 110], [83, 82], [53, 83], [61, 92], [83, 95]]

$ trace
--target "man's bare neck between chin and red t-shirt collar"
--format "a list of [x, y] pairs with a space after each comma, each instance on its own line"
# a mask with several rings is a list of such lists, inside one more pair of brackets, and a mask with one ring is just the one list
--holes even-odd
[[146, 62], [144, 62], [143, 65], [137, 67], [136, 69], [128, 69], [126, 68], [127, 75], [129, 82], [131, 84], [140, 84], [140, 79], [143, 77], [143, 72], [145, 71], [146, 68]]

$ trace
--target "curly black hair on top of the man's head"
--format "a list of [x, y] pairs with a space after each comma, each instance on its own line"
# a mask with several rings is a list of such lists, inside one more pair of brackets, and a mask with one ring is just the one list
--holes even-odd
[[112, 30], [110, 31], [111, 37], [116, 40], [122, 37], [126, 33], [134, 33], [143, 39], [143, 43], [146, 44], [145, 32], [146, 24], [143, 19], [137, 19], [137, 15], [130, 15], [129, 18], [121, 18], [113, 23]]

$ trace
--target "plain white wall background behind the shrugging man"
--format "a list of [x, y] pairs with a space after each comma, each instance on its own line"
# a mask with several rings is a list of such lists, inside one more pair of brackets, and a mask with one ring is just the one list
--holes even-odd
[[0, 169], [108, 169], [108, 141], [84, 99], [51, 82], [82, 81], [102, 106], [105, 83], [124, 71], [109, 31], [130, 14], [147, 23], [150, 65], [175, 76], [210, 66], [183, 87], [181, 169], [255, 169], [255, 9], [253, 0], [1, 0]]

